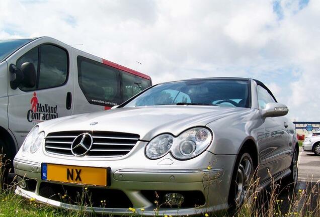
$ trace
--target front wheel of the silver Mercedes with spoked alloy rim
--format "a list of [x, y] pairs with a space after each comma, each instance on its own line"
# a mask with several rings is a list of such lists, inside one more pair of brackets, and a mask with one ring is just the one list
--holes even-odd
[[233, 211], [236, 207], [241, 206], [246, 200], [254, 171], [252, 157], [244, 149], [239, 153], [233, 169], [228, 199], [229, 211]]

